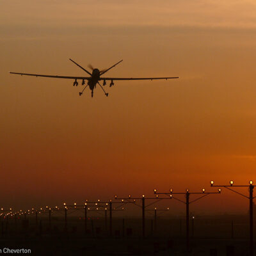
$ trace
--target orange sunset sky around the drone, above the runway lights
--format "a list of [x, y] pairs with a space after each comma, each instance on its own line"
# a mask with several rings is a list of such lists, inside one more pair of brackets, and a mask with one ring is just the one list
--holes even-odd
[[[1, 1], [1, 204], [256, 183], [255, 42], [252, 0]], [[8, 74], [86, 76], [68, 58], [180, 79], [116, 81], [92, 99], [68, 79]], [[223, 192], [195, 211], [247, 211]]]

